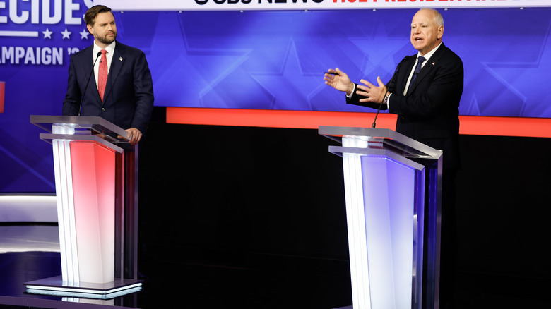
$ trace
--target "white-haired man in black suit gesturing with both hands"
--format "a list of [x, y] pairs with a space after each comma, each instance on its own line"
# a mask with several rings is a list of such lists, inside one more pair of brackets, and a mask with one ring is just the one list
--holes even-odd
[[[352, 83], [343, 71], [330, 69], [327, 85], [346, 92], [347, 103], [397, 114], [396, 131], [435, 149], [444, 150], [442, 176], [442, 265], [440, 308], [451, 308], [456, 259], [455, 178], [459, 162], [459, 101], [463, 62], [442, 43], [444, 19], [423, 8], [411, 23], [410, 41], [417, 55], [398, 63], [395, 77], [384, 85]], [[382, 105], [381, 105], [382, 104]]]

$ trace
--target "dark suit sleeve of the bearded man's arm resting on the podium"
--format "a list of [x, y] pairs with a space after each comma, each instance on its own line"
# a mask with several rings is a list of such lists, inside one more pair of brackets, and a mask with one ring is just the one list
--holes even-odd
[[149, 71], [146, 54], [139, 52], [134, 67], [135, 110], [131, 128], [145, 133], [153, 112], [153, 80]]

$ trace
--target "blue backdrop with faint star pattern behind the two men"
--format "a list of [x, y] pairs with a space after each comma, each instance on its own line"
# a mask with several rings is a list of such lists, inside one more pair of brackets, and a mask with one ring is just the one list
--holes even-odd
[[[0, 9], [0, 81], [6, 83], [0, 192], [54, 191], [52, 149], [29, 116], [61, 114], [69, 56], [93, 38], [80, 18], [84, 2], [61, 17], [53, 6], [51, 18], [23, 2], [13, 16]], [[347, 106], [341, 92], [324, 85], [323, 72], [338, 67], [356, 82], [389, 80], [396, 64], [416, 53], [409, 42], [413, 13], [125, 12], [115, 18], [118, 40], [146, 52], [157, 106], [362, 112], [371, 110]], [[551, 117], [544, 84], [551, 68], [549, 8], [442, 15], [444, 43], [465, 67], [461, 114]]]

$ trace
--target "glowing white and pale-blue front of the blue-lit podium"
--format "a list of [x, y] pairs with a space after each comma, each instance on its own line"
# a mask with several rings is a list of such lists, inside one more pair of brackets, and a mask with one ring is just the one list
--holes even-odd
[[[362, 137], [343, 137], [342, 143], [368, 148]], [[410, 309], [415, 168], [378, 154], [345, 152], [343, 172], [353, 308]]]

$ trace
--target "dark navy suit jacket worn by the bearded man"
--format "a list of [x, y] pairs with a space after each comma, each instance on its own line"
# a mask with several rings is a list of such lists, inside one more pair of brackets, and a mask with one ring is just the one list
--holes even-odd
[[94, 75], [90, 78], [95, 59], [92, 54], [93, 45], [71, 56], [63, 114], [78, 115], [84, 93], [82, 116], [101, 116], [123, 129], [137, 128], [145, 133], [154, 100], [146, 55], [134, 47], [115, 44], [102, 102]]

